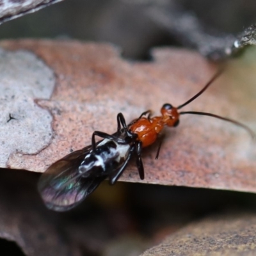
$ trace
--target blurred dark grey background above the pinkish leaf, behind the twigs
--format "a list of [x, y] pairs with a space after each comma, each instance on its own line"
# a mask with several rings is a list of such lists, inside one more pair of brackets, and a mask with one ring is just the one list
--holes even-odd
[[[256, 22], [253, 0], [65, 0], [0, 27], [0, 38], [76, 38], [119, 45], [127, 58], [145, 60], [151, 47], [180, 45], [150, 10], [189, 13], [206, 31], [239, 33]], [[170, 33], [171, 32], [171, 33]]]

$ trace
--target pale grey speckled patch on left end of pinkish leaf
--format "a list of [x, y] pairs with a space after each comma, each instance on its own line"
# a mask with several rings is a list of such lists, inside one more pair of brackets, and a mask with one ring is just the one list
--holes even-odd
[[5, 168], [13, 154], [36, 154], [51, 142], [51, 113], [35, 99], [51, 97], [54, 73], [31, 52], [0, 49], [0, 74], [0, 167]]

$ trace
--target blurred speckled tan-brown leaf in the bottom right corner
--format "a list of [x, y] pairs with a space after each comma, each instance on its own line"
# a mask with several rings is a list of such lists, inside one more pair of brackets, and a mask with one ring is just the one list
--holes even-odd
[[255, 214], [224, 214], [184, 227], [141, 256], [255, 255]]

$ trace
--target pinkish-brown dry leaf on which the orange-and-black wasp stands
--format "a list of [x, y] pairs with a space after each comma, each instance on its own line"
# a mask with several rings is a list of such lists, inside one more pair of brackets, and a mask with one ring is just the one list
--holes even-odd
[[[166, 102], [174, 106], [182, 104], [218, 69], [195, 52], [171, 48], [155, 49], [152, 62], [132, 62], [120, 58], [118, 49], [108, 44], [13, 40], [2, 41], [0, 45], [4, 49], [33, 52], [55, 74], [50, 99], [43, 94], [28, 95], [36, 100], [37, 108], [47, 109], [52, 115], [52, 124], [49, 118], [41, 127], [41, 132], [45, 131], [45, 136], [40, 134], [44, 143], [35, 142], [38, 147], [26, 154], [17, 154], [15, 150], [8, 153], [7, 166], [35, 172], [43, 172], [70, 150], [89, 145], [93, 131], [115, 132], [118, 112], [124, 113], [129, 122], [147, 109], [159, 115]], [[31, 66], [35, 63], [31, 61]], [[246, 58], [232, 61], [218, 81], [184, 111], [228, 116], [256, 131], [254, 70], [253, 61], [250, 63]], [[39, 82], [45, 79], [43, 73], [39, 76]], [[17, 77], [16, 84], [20, 79], [22, 76]], [[44, 82], [42, 86], [50, 85]], [[28, 115], [27, 111], [24, 115]], [[47, 111], [44, 113], [48, 115]], [[32, 125], [33, 117], [30, 118]], [[143, 150], [145, 180], [142, 182], [256, 192], [255, 141], [246, 131], [207, 116], [184, 115], [180, 119], [176, 129], [166, 128], [158, 160], [154, 159], [158, 143]], [[15, 122], [11, 120], [8, 124], [15, 125]], [[19, 122], [21, 126], [24, 120]], [[47, 128], [49, 124], [52, 132]], [[13, 138], [19, 136], [12, 131]], [[50, 133], [51, 140], [45, 139]], [[8, 137], [3, 141], [7, 140]], [[19, 141], [20, 147], [28, 147], [29, 140], [34, 143], [31, 136]], [[23, 148], [18, 151], [22, 152]], [[134, 163], [120, 180], [141, 182]]]

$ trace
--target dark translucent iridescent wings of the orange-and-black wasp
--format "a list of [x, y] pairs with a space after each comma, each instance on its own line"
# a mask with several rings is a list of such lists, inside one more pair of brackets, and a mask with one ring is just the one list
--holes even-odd
[[54, 211], [68, 211], [90, 195], [106, 177], [83, 178], [78, 168], [91, 146], [77, 150], [52, 164], [40, 177], [38, 190], [45, 205]]

